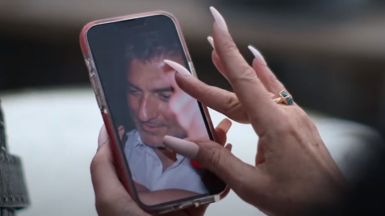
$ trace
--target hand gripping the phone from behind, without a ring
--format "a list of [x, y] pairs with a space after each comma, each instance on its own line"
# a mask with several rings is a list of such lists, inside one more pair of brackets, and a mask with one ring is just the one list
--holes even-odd
[[[215, 136], [219, 144], [226, 143], [226, 133], [231, 127], [229, 119], [222, 120], [215, 128]], [[91, 162], [91, 178], [95, 191], [95, 205], [99, 216], [150, 216], [144, 212], [131, 198], [120, 180], [118, 179], [115, 162], [112, 151], [110, 149], [110, 141], [105, 126], [103, 125], [98, 138], [98, 150]], [[218, 144], [217, 144], [218, 145]], [[219, 145], [223, 149], [231, 150], [231, 144], [226, 148]], [[173, 196], [188, 196], [191, 192], [175, 190], [175, 191], [147, 191], [143, 185], [140, 185], [146, 202], [158, 202], [159, 198], [164, 198], [164, 202], [174, 199]], [[168, 196], [164, 197], [164, 192]], [[171, 193], [170, 193], [171, 192]], [[190, 193], [190, 194], [189, 194]], [[140, 195], [140, 194], [139, 194]], [[195, 195], [195, 194], [192, 194]], [[152, 201], [151, 199], [154, 199]], [[178, 212], [172, 212], [165, 216], [202, 216], [208, 205], [198, 208], [187, 208]]]

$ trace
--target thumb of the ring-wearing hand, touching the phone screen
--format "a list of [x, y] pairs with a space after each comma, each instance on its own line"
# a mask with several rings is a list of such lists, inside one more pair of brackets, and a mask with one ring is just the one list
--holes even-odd
[[[228, 149], [210, 140], [190, 142], [165, 136], [163, 144], [177, 153], [195, 160], [202, 167], [225, 181], [234, 192], [240, 191], [250, 180], [263, 179], [261, 171], [235, 157]], [[255, 182], [254, 182], [255, 184]], [[255, 185], [253, 185], [255, 187]]]

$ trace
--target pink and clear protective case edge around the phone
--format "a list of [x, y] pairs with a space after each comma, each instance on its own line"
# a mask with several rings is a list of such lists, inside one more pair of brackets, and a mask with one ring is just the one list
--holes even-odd
[[[116, 134], [116, 132], [114, 130], [112, 118], [109, 115], [109, 108], [106, 106], [105, 95], [103, 93], [103, 89], [101, 87], [101, 83], [99, 80], [99, 75], [98, 75], [98, 72], [96, 71], [95, 64], [94, 64], [93, 57], [92, 57], [92, 53], [91, 53], [90, 48], [89, 48], [89, 44], [88, 44], [88, 40], [87, 40], [87, 32], [91, 27], [96, 26], [96, 25], [105, 24], [105, 23], [112, 23], [112, 22], [117, 22], [117, 21], [122, 21], [122, 20], [130, 20], [130, 19], [135, 19], [135, 18], [142, 18], [142, 17], [147, 17], [147, 16], [153, 16], [153, 15], [165, 15], [165, 16], [169, 17], [174, 22], [175, 27], [176, 27], [177, 32], [178, 32], [178, 35], [179, 35], [179, 39], [180, 39], [182, 46], [183, 46], [184, 53], [185, 53], [187, 61], [188, 61], [188, 65], [189, 65], [190, 70], [192, 72], [192, 75], [196, 76], [194, 67], [192, 65], [192, 60], [191, 60], [190, 54], [188, 52], [186, 42], [185, 42], [185, 39], [182, 35], [182, 31], [181, 31], [181, 28], [178, 24], [178, 21], [175, 19], [175, 17], [172, 14], [170, 14], [168, 12], [153, 11], [153, 12], [133, 14], [133, 15], [128, 15], [128, 16], [121, 16], [121, 17], [115, 17], [115, 18], [97, 20], [97, 21], [90, 22], [83, 27], [83, 29], [80, 33], [80, 46], [81, 46], [81, 49], [83, 52], [85, 64], [86, 64], [88, 72], [89, 72], [90, 82], [91, 82], [92, 88], [95, 92], [96, 101], [97, 101], [97, 104], [98, 104], [100, 111], [102, 113], [103, 121], [104, 121], [104, 124], [106, 126], [108, 135], [110, 137], [111, 148], [112, 148], [114, 157], [116, 159], [116, 166], [117, 166], [116, 169], [118, 171], [119, 179], [123, 183], [126, 190], [131, 194], [133, 199], [139, 204], [139, 206], [142, 209], [144, 209], [145, 211], [147, 211], [149, 213], [162, 214], [162, 213], [167, 213], [167, 212], [171, 212], [171, 211], [184, 209], [184, 208], [191, 207], [191, 206], [198, 207], [202, 204], [217, 202], [217, 201], [219, 201], [219, 200], [221, 200], [227, 196], [227, 194], [230, 191], [230, 188], [227, 186], [225, 188], [225, 190], [219, 194], [208, 195], [205, 197], [200, 197], [198, 199], [191, 199], [188, 201], [173, 203], [170, 205], [162, 205], [161, 207], [158, 207], [158, 208], [152, 208], [151, 206], [144, 205], [142, 202], [139, 201], [138, 197], [136, 196], [136, 193], [132, 192], [132, 191], [135, 191], [135, 187], [134, 187], [133, 182], [130, 178], [130, 174], [128, 172], [129, 169], [125, 163], [125, 156], [119, 147], [118, 135]], [[211, 134], [213, 135], [213, 137], [215, 137], [214, 136], [214, 127], [213, 127], [213, 124], [211, 122], [207, 107], [205, 107], [204, 105], [202, 105], [202, 107], [204, 109], [205, 117], [209, 123]]]

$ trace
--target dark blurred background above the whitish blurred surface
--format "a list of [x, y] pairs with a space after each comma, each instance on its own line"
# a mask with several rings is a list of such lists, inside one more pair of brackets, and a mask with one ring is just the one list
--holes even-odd
[[231, 90], [211, 62], [209, 6], [247, 61], [252, 44], [299, 105], [385, 134], [384, 0], [0, 0], [0, 95], [90, 89], [81, 28], [151, 10], [179, 20], [199, 78]]

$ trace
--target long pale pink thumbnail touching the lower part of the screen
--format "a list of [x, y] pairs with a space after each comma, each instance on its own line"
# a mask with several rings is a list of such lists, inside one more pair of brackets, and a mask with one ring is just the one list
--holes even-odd
[[164, 136], [163, 144], [190, 159], [194, 159], [199, 151], [197, 144], [171, 136]]

